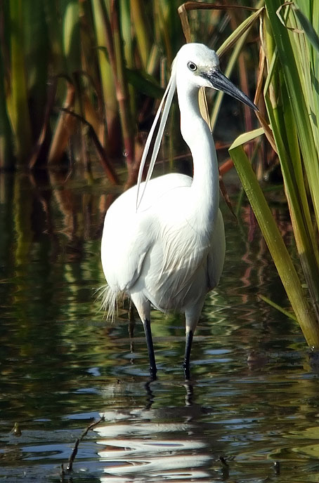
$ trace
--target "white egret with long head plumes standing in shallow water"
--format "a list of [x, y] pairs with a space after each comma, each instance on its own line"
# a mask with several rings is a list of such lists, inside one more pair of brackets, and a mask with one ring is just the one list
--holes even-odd
[[[214, 51], [202, 44], [184, 45], [176, 55], [164, 94], [167, 101], [145, 183], [141, 183], [143, 166], [164, 98], [145, 145], [138, 184], [119, 196], [105, 215], [101, 257], [108, 285], [103, 306], [109, 317], [114, 317], [117, 297], [123, 293], [131, 297], [143, 322], [153, 379], [157, 368], [151, 306], [185, 314], [183, 366], [189, 379], [193, 333], [207, 292], [219, 283], [223, 270], [225, 233], [219, 210], [219, 169], [211, 131], [200, 114], [200, 87], [224, 91], [257, 109], [221, 73]], [[175, 88], [181, 134], [193, 155], [193, 178], [171, 173], [148, 182]], [[138, 198], [139, 192], [142, 195]]]

